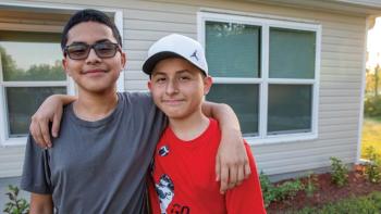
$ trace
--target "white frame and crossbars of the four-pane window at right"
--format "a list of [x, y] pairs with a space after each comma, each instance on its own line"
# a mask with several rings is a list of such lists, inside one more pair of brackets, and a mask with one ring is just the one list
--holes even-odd
[[[258, 136], [246, 137], [249, 144], [279, 143], [291, 141], [305, 141], [318, 138], [318, 105], [319, 105], [319, 79], [320, 79], [320, 46], [321, 46], [321, 25], [314, 22], [290, 21], [290, 17], [268, 18], [260, 17], [258, 14], [249, 16], [229, 13], [198, 12], [197, 14], [197, 36], [198, 41], [206, 47], [206, 22], [228, 22], [237, 24], [247, 24], [261, 27], [261, 77], [260, 78], [231, 78], [213, 77], [214, 84], [258, 84], [259, 86], [259, 117]], [[315, 59], [315, 79], [287, 79], [269, 78], [269, 36], [270, 27], [290, 28], [308, 30], [316, 33], [316, 59]], [[311, 131], [295, 134], [267, 135], [268, 117], [268, 90], [271, 84], [284, 85], [311, 85], [312, 104], [311, 104]]]

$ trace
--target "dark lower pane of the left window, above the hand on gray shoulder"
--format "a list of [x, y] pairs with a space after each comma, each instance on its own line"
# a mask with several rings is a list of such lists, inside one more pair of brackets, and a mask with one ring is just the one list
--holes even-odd
[[25, 136], [30, 116], [53, 93], [66, 93], [65, 87], [5, 87], [9, 137]]

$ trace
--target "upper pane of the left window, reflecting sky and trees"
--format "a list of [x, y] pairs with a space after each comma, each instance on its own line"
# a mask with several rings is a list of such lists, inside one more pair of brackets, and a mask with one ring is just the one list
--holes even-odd
[[0, 30], [4, 81], [65, 80], [60, 34]]

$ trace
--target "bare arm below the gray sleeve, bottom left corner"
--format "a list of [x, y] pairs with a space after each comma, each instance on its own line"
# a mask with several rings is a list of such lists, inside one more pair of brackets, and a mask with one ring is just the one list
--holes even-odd
[[30, 193], [29, 214], [52, 214], [53, 200], [51, 194]]

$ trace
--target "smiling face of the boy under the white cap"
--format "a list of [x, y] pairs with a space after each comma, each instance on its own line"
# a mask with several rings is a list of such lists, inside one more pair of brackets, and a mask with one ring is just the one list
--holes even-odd
[[180, 58], [156, 64], [148, 88], [155, 103], [167, 116], [183, 119], [201, 113], [204, 96], [209, 91], [211, 77]]

